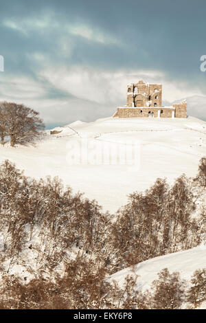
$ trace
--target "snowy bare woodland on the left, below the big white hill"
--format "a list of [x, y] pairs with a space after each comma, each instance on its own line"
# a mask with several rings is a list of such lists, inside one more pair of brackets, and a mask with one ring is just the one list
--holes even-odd
[[[72, 248], [103, 256], [101, 261], [111, 249], [109, 216], [97, 202], [72, 194], [70, 188], [64, 190], [58, 178], [36, 181], [5, 161], [0, 171], [0, 203], [3, 255], [11, 265], [25, 248], [35, 249], [36, 263], [47, 268], [67, 258]], [[38, 242], [31, 247], [36, 232]]]

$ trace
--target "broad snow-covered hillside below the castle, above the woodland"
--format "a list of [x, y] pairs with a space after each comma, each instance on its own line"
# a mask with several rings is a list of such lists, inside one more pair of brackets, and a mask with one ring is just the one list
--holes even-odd
[[[115, 212], [126, 203], [127, 195], [135, 190], [144, 190], [157, 179], [168, 181], [181, 175], [194, 176], [198, 161], [206, 155], [206, 122], [196, 118], [105, 118], [95, 122], [73, 122], [58, 127], [62, 131], [49, 135], [36, 146], [0, 148], [0, 161], [9, 159], [25, 175], [40, 178], [58, 176], [71, 186], [74, 192], [84, 192], [89, 199], [96, 199], [104, 210]], [[89, 161], [69, 162], [71, 148], [80, 148], [89, 143]], [[100, 155], [104, 144], [111, 154], [115, 148], [125, 154], [126, 145], [138, 147], [139, 165], [117, 162], [102, 164], [95, 155]], [[73, 146], [72, 146], [73, 145]], [[73, 151], [75, 155], [77, 151]], [[69, 155], [69, 156], [70, 156]], [[102, 159], [103, 160], [103, 159]]]

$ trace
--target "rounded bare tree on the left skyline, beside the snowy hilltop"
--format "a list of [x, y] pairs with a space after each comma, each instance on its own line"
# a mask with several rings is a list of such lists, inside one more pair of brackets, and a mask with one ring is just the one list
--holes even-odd
[[45, 129], [38, 112], [14, 102], [0, 102], [0, 137], [1, 145], [5, 137], [10, 137], [10, 145], [34, 142]]

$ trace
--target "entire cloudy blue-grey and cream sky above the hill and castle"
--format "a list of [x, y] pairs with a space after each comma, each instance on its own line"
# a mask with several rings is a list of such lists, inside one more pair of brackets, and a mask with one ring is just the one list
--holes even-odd
[[47, 126], [112, 115], [126, 85], [163, 84], [206, 120], [205, 0], [0, 0], [0, 100]]

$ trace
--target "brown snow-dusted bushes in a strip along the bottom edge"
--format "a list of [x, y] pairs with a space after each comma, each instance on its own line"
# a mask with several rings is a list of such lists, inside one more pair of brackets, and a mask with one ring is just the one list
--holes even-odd
[[76, 258], [56, 281], [36, 278], [24, 284], [3, 276], [0, 309], [196, 309], [206, 301], [206, 269], [183, 280], [167, 268], [159, 272], [150, 290], [134, 289], [137, 276], [127, 276], [124, 285], [104, 279], [105, 269]]

